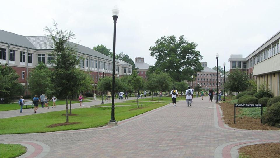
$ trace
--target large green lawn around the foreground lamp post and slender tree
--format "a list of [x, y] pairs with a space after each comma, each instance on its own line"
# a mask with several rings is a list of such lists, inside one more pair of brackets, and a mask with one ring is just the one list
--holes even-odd
[[[137, 109], [137, 105], [115, 107], [115, 119], [117, 121], [128, 119], [167, 104], [169, 103], [153, 103], [141, 109]], [[111, 118], [111, 107], [78, 108], [72, 109], [72, 113], [76, 116], [69, 116], [69, 122], [81, 122], [81, 124], [48, 128], [49, 125], [65, 122], [66, 116], [63, 116], [65, 110], [0, 119], [0, 134], [39, 133], [105, 126]]]

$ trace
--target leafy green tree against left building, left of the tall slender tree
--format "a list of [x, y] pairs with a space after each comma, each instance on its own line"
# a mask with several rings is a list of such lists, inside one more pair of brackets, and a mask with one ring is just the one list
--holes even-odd
[[32, 71], [32, 76], [29, 77], [29, 86], [32, 96], [45, 93], [46, 95], [52, 95], [54, 92], [53, 84], [51, 81], [51, 71], [46, 64], [39, 63]]

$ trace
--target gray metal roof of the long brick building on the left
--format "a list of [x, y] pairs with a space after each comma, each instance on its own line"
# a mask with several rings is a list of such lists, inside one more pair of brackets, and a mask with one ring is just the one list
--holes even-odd
[[[46, 50], [53, 49], [53, 41], [49, 36], [22, 36], [17, 35], [11, 32], [0, 30], [0, 42], [14, 44], [17, 46], [37, 49], [37, 50]], [[112, 58], [99, 53], [89, 47], [82, 46], [73, 42], [69, 42], [71, 46], [77, 46], [77, 51], [83, 54], [88, 54], [91, 56], [96, 56], [98, 58], [107, 59], [113, 61]]]

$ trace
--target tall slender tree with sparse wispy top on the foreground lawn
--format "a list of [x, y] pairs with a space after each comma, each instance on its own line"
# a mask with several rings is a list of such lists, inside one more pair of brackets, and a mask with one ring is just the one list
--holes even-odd
[[[53, 41], [54, 52], [56, 57], [52, 66], [52, 83], [57, 96], [66, 100], [66, 122], [68, 119], [68, 98], [71, 97], [76, 90], [75, 85], [78, 84], [77, 76], [73, 73], [76, 71], [76, 66], [79, 65], [80, 59], [77, 58], [76, 45], [71, 45], [68, 41], [75, 38], [75, 34], [71, 31], [63, 31], [57, 28], [57, 23], [54, 21], [55, 28], [46, 27], [44, 30], [48, 32]], [[75, 73], [76, 74], [76, 73]]]

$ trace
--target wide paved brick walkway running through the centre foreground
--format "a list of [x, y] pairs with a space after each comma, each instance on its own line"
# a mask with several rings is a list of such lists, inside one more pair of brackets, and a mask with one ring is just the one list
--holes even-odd
[[280, 131], [223, 126], [220, 109], [206, 98], [195, 98], [191, 107], [185, 101], [176, 105], [120, 121], [116, 127], [0, 135], [0, 143], [33, 146], [30, 157], [238, 157], [238, 147], [280, 142]]

